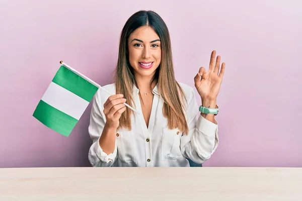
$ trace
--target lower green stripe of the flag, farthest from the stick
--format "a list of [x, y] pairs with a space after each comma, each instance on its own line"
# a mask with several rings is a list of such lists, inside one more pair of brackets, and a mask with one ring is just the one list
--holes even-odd
[[53, 108], [40, 100], [33, 116], [48, 128], [68, 137], [78, 123], [77, 119]]

